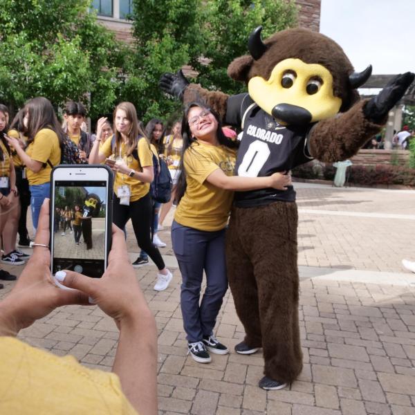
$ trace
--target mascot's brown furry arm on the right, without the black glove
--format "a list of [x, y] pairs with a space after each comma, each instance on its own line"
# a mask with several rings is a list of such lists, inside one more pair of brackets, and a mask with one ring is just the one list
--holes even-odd
[[309, 142], [311, 156], [324, 163], [346, 160], [378, 133], [382, 126], [365, 118], [366, 103], [362, 100], [338, 117], [317, 122]]

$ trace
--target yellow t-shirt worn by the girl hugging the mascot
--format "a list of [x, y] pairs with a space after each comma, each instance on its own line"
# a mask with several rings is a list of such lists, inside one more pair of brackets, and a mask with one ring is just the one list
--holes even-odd
[[195, 142], [185, 151], [187, 187], [174, 214], [177, 223], [205, 231], [225, 228], [233, 192], [219, 189], [206, 178], [216, 169], [233, 176], [236, 153], [223, 145], [216, 147], [203, 142]]

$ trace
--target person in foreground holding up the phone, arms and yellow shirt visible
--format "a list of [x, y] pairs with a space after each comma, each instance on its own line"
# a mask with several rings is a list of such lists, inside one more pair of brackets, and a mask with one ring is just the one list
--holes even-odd
[[[124, 234], [116, 226], [112, 241], [101, 278], [71, 271], [53, 278], [47, 248], [48, 199], [42, 205], [33, 256], [0, 301], [0, 414], [157, 414], [156, 322], [129, 264]], [[75, 290], [57, 288], [55, 281]], [[16, 338], [21, 329], [57, 307], [97, 307], [89, 297], [120, 331], [112, 373], [89, 369], [73, 356], [55, 356]]]

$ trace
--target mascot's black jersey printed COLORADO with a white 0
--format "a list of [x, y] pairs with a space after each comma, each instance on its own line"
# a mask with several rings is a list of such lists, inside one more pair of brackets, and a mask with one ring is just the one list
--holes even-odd
[[[248, 94], [234, 95], [228, 99], [225, 122], [243, 128], [235, 175], [246, 177], [270, 176], [275, 172], [288, 172], [312, 160], [306, 149], [306, 128], [284, 127], [258, 107]], [[235, 192], [235, 204], [250, 207], [273, 201], [295, 201], [293, 186], [288, 190], [272, 187], [248, 192]]]

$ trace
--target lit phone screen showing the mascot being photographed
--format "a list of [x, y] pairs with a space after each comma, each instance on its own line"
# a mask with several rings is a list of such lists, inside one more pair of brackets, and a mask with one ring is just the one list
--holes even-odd
[[107, 181], [54, 181], [52, 272], [102, 277], [107, 252]]

